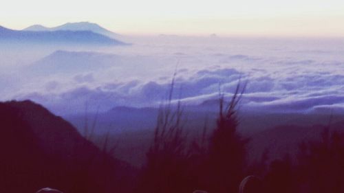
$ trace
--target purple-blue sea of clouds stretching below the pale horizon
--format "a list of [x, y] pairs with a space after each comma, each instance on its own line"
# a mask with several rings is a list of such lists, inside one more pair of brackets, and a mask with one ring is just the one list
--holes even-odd
[[30, 99], [61, 115], [158, 106], [175, 77], [173, 101], [186, 105], [216, 100], [219, 92], [230, 97], [240, 80], [247, 82], [242, 100], [247, 111], [344, 113], [344, 39], [126, 41], [133, 45], [6, 49], [0, 54], [1, 100]]

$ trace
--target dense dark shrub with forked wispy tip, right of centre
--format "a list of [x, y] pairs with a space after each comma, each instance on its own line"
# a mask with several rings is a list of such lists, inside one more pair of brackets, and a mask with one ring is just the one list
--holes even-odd
[[228, 104], [225, 104], [223, 95], [219, 98], [217, 127], [213, 130], [208, 150], [209, 192], [237, 192], [244, 178], [248, 139], [237, 132], [237, 105], [245, 87], [239, 82]]

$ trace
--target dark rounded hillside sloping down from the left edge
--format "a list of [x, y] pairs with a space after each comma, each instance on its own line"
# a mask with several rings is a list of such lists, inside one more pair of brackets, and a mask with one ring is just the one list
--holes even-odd
[[0, 192], [126, 192], [134, 170], [34, 102], [0, 103]]

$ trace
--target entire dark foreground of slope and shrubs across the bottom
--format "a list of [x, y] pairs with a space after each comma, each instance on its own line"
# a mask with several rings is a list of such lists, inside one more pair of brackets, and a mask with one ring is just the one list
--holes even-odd
[[[245, 137], [237, 131], [237, 94], [228, 104], [219, 101], [214, 128], [200, 128], [202, 136], [191, 141], [180, 106], [162, 106], [140, 170], [111, 156], [107, 138], [97, 148], [39, 104], [0, 102], [0, 192], [344, 191], [344, 122], [281, 126]], [[249, 161], [250, 152], [261, 156]]]

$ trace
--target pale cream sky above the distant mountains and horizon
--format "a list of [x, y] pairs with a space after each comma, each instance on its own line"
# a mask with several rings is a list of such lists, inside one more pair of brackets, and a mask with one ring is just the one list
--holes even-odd
[[16, 30], [78, 21], [120, 34], [344, 36], [344, 1], [11, 0], [0, 6], [0, 25]]

